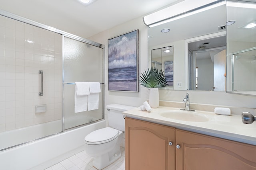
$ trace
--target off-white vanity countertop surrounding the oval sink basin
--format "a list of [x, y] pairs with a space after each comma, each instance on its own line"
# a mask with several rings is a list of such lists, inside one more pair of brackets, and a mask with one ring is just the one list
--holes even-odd
[[168, 110], [178, 111], [180, 108], [159, 106], [155, 109], [152, 108], [151, 112], [147, 112], [141, 111], [138, 107], [124, 111], [123, 114], [127, 117], [168, 125], [186, 131], [256, 145], [256, 122], [250, 125], [244, 124], [242, 123], [242, 117], [239, 115], [217, 115], [214, 112], [196, 110], [196, 113], [208, 117], [209, 121], [195, 122], [170, 119], [159, 114]]

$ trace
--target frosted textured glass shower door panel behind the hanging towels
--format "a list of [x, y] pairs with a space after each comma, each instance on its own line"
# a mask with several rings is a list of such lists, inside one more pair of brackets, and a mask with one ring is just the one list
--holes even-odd
[[[104, 118], [104, 48], [65, 36], [63, 41], [63, 120], [66, 130]], [[75, 82], [100, 82], [98, 109], [75, 113]]]

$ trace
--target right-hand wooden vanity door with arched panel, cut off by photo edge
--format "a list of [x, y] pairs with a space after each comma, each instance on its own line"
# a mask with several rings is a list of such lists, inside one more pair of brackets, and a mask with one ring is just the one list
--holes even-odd
[[256, 146], [176, 129], [176, 170], [256, 170]]

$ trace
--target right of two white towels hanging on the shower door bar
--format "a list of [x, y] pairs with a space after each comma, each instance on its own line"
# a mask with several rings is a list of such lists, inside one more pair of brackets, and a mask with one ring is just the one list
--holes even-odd
[[100, 83], [89, 82], [90, 95], [88, 95], [88, 111], [99, 108]]

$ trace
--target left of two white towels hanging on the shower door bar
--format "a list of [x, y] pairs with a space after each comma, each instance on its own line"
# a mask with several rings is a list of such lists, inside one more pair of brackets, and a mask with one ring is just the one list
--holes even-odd
[[87, 111], [88, 94], [90, 94], [88, 82], [75, 82], [75, 113]]

